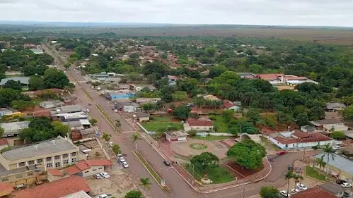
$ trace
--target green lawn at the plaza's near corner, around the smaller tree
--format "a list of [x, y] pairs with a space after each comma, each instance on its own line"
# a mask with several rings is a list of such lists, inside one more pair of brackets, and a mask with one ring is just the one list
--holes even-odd
[[234, 180], [231, 173], [228, 173], [226, 169], [221, 166], [216, 166], [212, 168], [207, 168], [206, 170], [201, 170], [201, 168], [194, 168], [192, 171], [192, 166], [184, 166], [185, 170], [189, 172], [191, 175], [194, 173], [194, 177], [196, 180], [201, 180], [204, 178], [204, 175], [207, 174], [208, 178], [212, 180], [213, 184], [220, 184], [225, 182], [231, 182]]

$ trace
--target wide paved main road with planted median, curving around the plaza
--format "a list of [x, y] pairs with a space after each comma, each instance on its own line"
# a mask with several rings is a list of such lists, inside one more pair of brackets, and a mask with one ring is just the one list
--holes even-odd
[[[62, 64], [58, 60], [60, 57], [57, 51], [50, 51], [47, 47], [43, 47], [48, 54], [54, 57], [55, 63], [59, 68], [64, 70]], [[62, 61], [66, 61], [63, 60]], [[66, 70], [66, 74], [69, 77], [70, 81], [78, 82], [84, 81], [83, 77], [76, 72], [73, 68], [69, 68]], [[86, 91], [93, 99], [89, 99], [86, 97]], [[170, 187], [171, 192], [166, 193], [161, 190], [161, 187], [154, 181], [154, 179], [149, 175], [146, 169], [139, 163], [138, 159], [132, 153], [134, 150], [134, 145], [131, 141], [132, 132], [134, 132], [134, 128], [132, 128], [129, 123], [126, 122], [124, 118], [122, 118], [118, 113], [112, 111], [112, 107], [106, 101], [104, 97], [100, 97], [96, 91], [91, 89], [90, 85], [86, 83], [76, 83], [76, 87], [74, 89], [74, 93], [77, 95], [78, 99], [81, 101], [83, 106], [88, 107], [91, 110], [90, 114], [94, 118], [98, 120], [100, 125], [100, 130], [102, 132], [109, 132], [112, 135], [111, 140], [115, 142], [115, 144], [119, 144], [123, 153], [127, 154], [127, 161], [129, 162], [128, 172], [132, 175], [132, 178], [135, 183], [139, 183], [138, 178], [150, 178], [152, 181], [151, 190], [148, 190], [148, 193], [151, 197], [183, 197], [183, 198], [193, 198], [193, 197], [215, 197], [215, 198], [241, 198], [243, 197], [243, 188], [242, 187], [232, 187], [225, 190], [219, 190], [217, 192], [212, 192], [209, 194], [198, 194], [192, 188], [187, 185], [187, 183], [183, 180], [183, 178], [178, 175], [178, 173], [173, 170], [173, 168], [167, 168], [163, 164], [163, 158], [159, 155], [152, 147], [151, 144], [145, 140], [140, 140], [139, 144], [139, 152], [142, 153], [143, 156], [151, 163], [158, 173], [160, 173], [161, 177], [166, 180], [166, 184]], [[118, 134], [115, 132], [114, 128], [108, 120], [105, 119], [102, 113], [95, 106], [88, 106], [88, 103], [91, 104], [99, 104], [102, 109], [107, 113], [110, 120], [120, 120], [122, 134]], [[264, 185], [273, 185], [274, 187], [280, 187], [286, 183], [284, 180], [284, 175], [287, 171], [288, 163], [293, 163], [296, 159], [300, 159], [302, 156], [301, 152], [298, 153], [290, 153], [284, 156], [269, 156], [270, 163], [272, 164], [272, 173], [262, 180], [261, 182], [256, 182], [250, 185], [245, 185], [245, 197], [250, 195], [258, 194], [260, 191], [260, 187]]]

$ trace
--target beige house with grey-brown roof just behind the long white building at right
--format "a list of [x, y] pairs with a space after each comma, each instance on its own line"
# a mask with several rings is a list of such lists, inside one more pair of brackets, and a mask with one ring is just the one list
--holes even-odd
[[342, 121], [336, 119], [314, 120], [310, 123], [316, 127], [316, 130], [328, 133], [348, 130], [348, 127]]

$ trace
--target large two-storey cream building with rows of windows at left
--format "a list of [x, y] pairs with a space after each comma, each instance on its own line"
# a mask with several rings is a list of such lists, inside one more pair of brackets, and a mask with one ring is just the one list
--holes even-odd
[[0, 154], [0, 181], [13, 186], [32, 184], [47, 169], [64, 168], [83, 159], [86, 154], [66, 137], [13, 148]]

